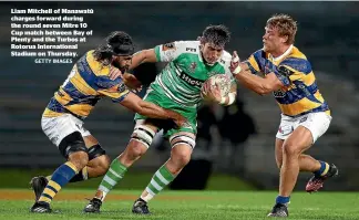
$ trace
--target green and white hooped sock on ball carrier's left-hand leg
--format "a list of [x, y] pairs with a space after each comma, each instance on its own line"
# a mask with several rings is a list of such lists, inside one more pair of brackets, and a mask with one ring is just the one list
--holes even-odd
[[111, 163], [110, 169], [103, 177], [100, 187], [98, 189], [98, 191], [102, 191], [102, 195], [99, 198], [96, 193], [96, 198], [103, 201], [106, 195], [109, 193], [109, 191], [111, 191], [113, 187], [123, 178], [126, 171], [127, 168], [123, 164], [121, 164], [119, 158], [115, 158]]

